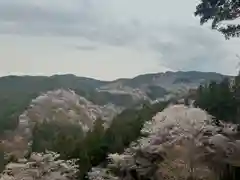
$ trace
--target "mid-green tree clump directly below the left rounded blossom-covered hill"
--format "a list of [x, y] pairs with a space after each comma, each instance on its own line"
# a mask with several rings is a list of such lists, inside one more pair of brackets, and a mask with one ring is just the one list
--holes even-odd
[[33, 129], [33, 152], [52, 150], [61, 154], [62, 158], [76, 148], [78, 141], [83, 139], [82, 128], [75, 124], [60, 122], [44, 122], [36, 124]]

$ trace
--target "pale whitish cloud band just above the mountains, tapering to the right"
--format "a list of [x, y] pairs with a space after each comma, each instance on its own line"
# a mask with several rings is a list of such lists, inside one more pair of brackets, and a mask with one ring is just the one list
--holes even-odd
[[[113, 80], [134, 77], [145, 72], [169, 70], [160, 66], [152, 53], [125, 46], [99, 46], [77, 37], [0, 36], [0, 75], [52, 75], [73, 73]], [[85, 42], [85, 43], [78, 43]], [[4, 45], [3, 45], [4, 44]], [[73, 45], [96, 47], [76, 49]], [[126, 58], [127, 57], [127, 58]]]

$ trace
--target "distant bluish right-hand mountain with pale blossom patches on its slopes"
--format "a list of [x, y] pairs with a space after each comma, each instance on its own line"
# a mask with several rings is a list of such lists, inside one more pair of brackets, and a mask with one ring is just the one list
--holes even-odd
[[196, 89], [200, 84], [220, 82], [224, 77], [219, 73], [197, 71], [144, 74], [109, 82], [97, 90], [115, 95], [130, 94], [135, 100], [156, 102], [188, 94], [190, 89]]

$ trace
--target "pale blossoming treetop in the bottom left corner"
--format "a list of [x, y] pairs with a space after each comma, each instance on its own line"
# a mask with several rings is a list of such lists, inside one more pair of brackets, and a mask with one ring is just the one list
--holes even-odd
[[9, 163], [0, 175], [0, 180], [72, 180], [76, 178], [78, 168], [76, 160], [58, 160], [59, 154], [32, 153], [29, 159], [19, 159]]

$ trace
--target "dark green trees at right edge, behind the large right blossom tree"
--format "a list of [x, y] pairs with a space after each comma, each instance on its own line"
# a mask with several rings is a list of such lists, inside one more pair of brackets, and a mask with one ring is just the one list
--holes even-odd
[[[235, 79], [237, 80], [239, 76]], [[195, 104], [202, 109], [207, 110], [217, 119], [240, 123], [238, 120], [238, 108], [240, 99], [237, 94], [238, 82], [231, 87], [229, 80], [224, 79], [220, 83], [211, 82], [209, 85], [200, 86], [197, 91]]]

